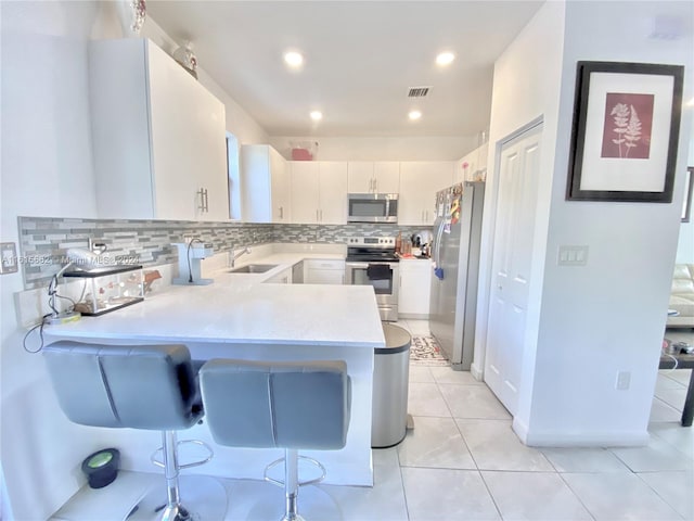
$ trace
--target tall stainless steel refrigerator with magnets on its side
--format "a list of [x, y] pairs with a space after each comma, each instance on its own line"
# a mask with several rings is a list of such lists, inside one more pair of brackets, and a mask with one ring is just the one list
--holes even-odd
[[483, 181], [436, 194], [429, 329], [457, 370], [473, 361], [484, 199]]

